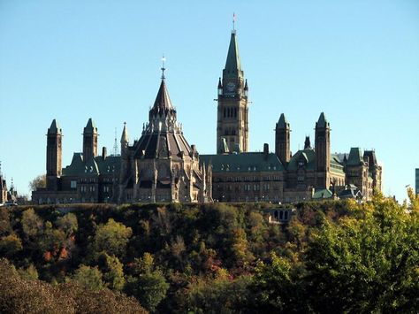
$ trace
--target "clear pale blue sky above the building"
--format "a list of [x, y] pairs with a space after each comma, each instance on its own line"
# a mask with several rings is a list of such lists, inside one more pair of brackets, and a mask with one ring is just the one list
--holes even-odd
[[281, 112], [293, 152], [320, 112], [331, 152], [375, 149], [385, 195], [406, 198], [419, 168], [419, 1], [0, 0], [0, 161], [21, 194], [45, 172], [52, 119], [63, 165], [88, 119], [111, 152], [124, 122], [141, 136], [166, 57], [187, 141], [216, 152], [217, 81], [232, 13], [248, 79], [250, 150], [274, 150]]

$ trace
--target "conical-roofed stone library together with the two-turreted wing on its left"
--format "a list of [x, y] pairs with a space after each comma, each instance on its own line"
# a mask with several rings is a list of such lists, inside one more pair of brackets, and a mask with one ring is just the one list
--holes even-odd
[[54, 119], [47, 132], [47, 184], [32, 194], [34, 203], [208, 202], [211, 167], [200, 165], [194, 145], [177, 121], [164, 76], [149, 123], [130, 146], [127, 126], [120, 156], [97, 154], [98, 132], [88, 119], [83, 152], [74, 153], [62, 168], [62, 130]]

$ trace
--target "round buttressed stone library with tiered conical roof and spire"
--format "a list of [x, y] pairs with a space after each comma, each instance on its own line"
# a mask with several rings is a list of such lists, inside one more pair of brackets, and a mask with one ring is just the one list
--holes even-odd
[[187, 143], [163, 75], [149, 111], [149, 123], [133, 146], [124, 126], [118, 202], [190, 203], [210, 199], [211, 169], [200, 165], [195, 146]]

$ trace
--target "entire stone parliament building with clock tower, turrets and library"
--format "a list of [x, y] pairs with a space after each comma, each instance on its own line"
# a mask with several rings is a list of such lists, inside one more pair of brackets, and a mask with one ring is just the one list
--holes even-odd
[[[314, 146], [291, 152], [290, 123], [278, 114], [275, 151], [248, 151], [248, 80], [232, 30], [223, 76], [217, 87], [217, 153], [200, 155], [189, 145], [166, 86], [164, 67], [156, 101], [141, 138], [130, 143], [124, 125], [120, 154], [98, 154], [97, 127], [88, 119], [83, 151], [62, 166], [63, 132], [54, 119], [47, 133], [46, 187], [34, 203], [271, 202], [313, 199], [369, 200], [381, 190], [382, 167], [374, 150], [351, 148], [331, 154], [331, 126], [324, 112]], [[136, 128], [136, 127], [135, 127]], [[261, 143], [262, 148], [262, 143]]]

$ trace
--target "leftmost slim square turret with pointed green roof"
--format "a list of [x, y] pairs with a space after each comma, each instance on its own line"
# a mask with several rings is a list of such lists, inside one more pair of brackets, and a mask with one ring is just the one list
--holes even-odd
[[56, 119], [47, 132], [47, 189], [57, 190], [57, 178], [62, 172], [62, 131]]

